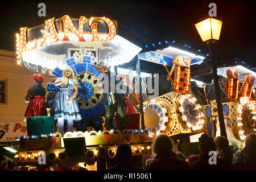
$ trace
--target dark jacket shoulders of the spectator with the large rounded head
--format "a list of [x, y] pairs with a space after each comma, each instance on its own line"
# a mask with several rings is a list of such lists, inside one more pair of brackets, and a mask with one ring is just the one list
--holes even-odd
[[158, 156], [147, 164], [146, 171], [187, 171], [191, 167], [180, 159], [177, 154], [170, 152], [168, 156]]

